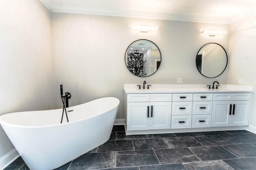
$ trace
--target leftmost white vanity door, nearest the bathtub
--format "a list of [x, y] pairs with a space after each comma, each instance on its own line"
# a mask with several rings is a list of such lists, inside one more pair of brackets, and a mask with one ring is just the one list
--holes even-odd
[[147, 130], [150, 120], [150, 102], [127, 103], [127, 130]]

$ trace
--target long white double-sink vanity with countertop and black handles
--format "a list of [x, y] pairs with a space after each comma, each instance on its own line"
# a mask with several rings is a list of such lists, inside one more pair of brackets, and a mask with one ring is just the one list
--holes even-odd
[[124, 85], [127, 135], [244, 129], [253, 88], [222, 85]]

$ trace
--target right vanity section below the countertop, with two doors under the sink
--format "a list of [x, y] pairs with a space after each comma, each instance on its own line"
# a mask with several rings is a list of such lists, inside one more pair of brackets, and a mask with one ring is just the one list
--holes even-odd
[[214, 94], [212, 127], [248, 125], [251, 93]]

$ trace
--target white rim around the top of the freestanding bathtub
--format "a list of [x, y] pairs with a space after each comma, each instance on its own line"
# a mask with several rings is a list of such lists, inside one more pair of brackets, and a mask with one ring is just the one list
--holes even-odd
[[[100, 99], [104, 99], [104, 98], [115, 98], [115, 97], [103, 97], [103, 98], [98, 98], [98, 99], [95, 99], [95, 100], [100, 100]], [[120, 104], [120, 100], [119, 100], [118, 98], [115, 98], [115, 99], [118, 101], [118, 103], [117, 103], [114, 107], [112, 107], [112, 108], [110, 108], [110, 109], [104, 111], [104, 113], [106, 113], [106, 112], [108, 112], [108, 111], [110, 111], [110, 110], [116, 108], [116, 107]], [[95, 101], [95, 100], [92, 100], [92, 101], [90, 101], [90, 102], [93, 102], [93, 101]], [[86, 103], [90, 103], [90, 102], [86, 102]], [[83, 104], [86, 104], [86, 103], [83, 103]], [[80, 106], [80, 105], [83, 105], [83, 104], [79, 104], [79, 105], [76, 105], [76, 106]], [[71, 107], [75, 107], [75, 106], [71, 106]], [[68, 108], [70, 108], [70, 107], [68, 107]], [[61, 109], [61, 108], [60, 108], [60, 109]], [[51, 109], [51, 110], [59, 110], [59, 109]], [[48, 111], [48, 110], [36, 110], [36, 111]], [[20, 112], [30, 112], [30, 111], [18, 111], [18, 112], [13, 112], [13, 113], [6, 113], [6, 114], [4, 114], [4, 115], [14, 114], [14, 113], [20, 113]], [[3, 120], [1, 119], [1, 117], [4, 116], [4, 115], [1, 115], [1, 116], [0, 116], [0, 123], [5, 124], [5, 125], [9, 125], [9, 126], [13, 126], [13, 127], [21, 127], [21, 128], [28, 128], [28, 129], [30, 129], [30, 128], [45, 128], [45, 127], [53, 127], [53, 126], [65, 125], [65, 124], [67, 124], [67, 123], [68, 123], [68, 124], [71, 124], [71, 123], [76, 123], [76, 122], [79, 122], [79, 121], [84, 121], [85, 119], [90, 119], [90, 118], [93, 118], [93, 117], [97, 117], [97, 116], [102, 115], [102, 114], [104, 114], [104, 113], [100, 113], [100, 114], [98, 114], [98, 115], [92, 115], [92, 116], [90, 116], [90, 117], [86, 117], [86, 118], [84, 118], [84, 119], [79, 119], [79, 120], [72, 121], [72, 122], [65, 122], [65, 123], [59, 123], [59, 124], [54, 124], [54, 125], [46, 125], [46, 126], [24, 126], [24, 125], [15, 125], [15, 124], [12, 124], [12, 123], [8, 123], [8, 122], [6, 122], [6, 121], [3, 121]], [[64, 112], [64, 114], [65, 114], [65, 112]], [[64, 115], [63, 115], [63, 116], [64, 116]]]

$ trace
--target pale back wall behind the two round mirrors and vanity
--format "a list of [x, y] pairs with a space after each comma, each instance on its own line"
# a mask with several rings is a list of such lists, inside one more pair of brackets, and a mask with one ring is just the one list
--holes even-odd
[[[141, 33], [132, 25], [156, 25], [158, 31]], [[227, 72], [205, 78], [196, 69], [196, 54], [214, 42], [228, 51], [229, 34], [210, 37], [202, 29], [229, 30], [229, 25], [184, 21], [146, 20], [111, 16], [52, 13], [55, 106], [61, 107], [59, 84], [72, 94], [71, 106], [105, 96], [120, 100], [116, 118], [124, 118], [124, 84], [226, 84]], [[229, 31], [228, 31], [229, 32]], [[154, 42], [162, 63], [150, 77], [140, 78], [126, 68], [127, 47], [137, 39]]]

